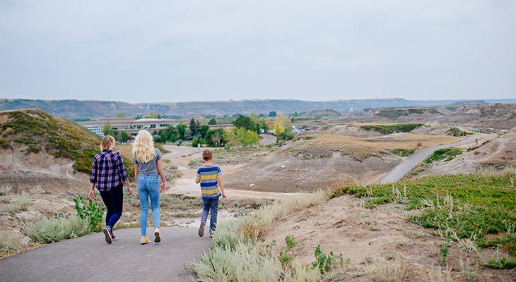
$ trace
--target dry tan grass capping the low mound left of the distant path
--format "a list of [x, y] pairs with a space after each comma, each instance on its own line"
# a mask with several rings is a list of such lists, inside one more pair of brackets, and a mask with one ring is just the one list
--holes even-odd
[[346, 135], [320, 135], [309, 140], [300, 140], [289, 151], [303, 157], [331, 157], [334, 152], [348, 155], [353, 159], [389, 154], [393, 149], [417, 149], [447, 144], [459, 140], [457, 137], [397, 133], [382, 137], [359, 138]]

